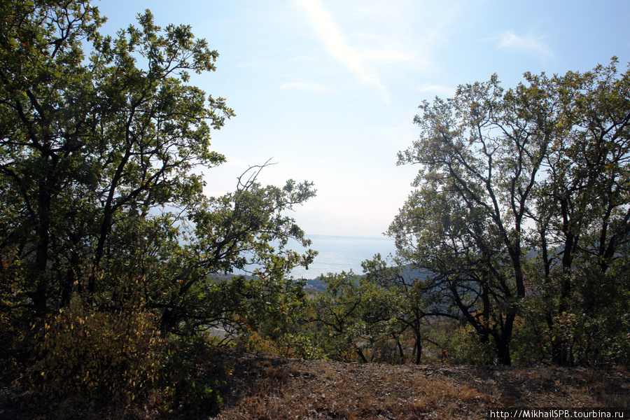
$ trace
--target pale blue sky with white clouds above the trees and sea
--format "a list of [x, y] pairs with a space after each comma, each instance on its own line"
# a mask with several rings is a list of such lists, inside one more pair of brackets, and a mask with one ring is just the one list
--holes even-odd
[[212, 135], [227, 162], [205, 192], [258, 180], [311, 181], [316, 197], [290, 216], [309, 235], [381, 237], [418, 171], [397, 166], [419, 137], [423, 100], [493, 73], [513, 87], [526, 71], [587, 71], [630, 62], [630, 1], [102, 0], [106, 33], [151, 9], [191, 25], [219, 53], [190, 83], [224, 97], [236, 116]]

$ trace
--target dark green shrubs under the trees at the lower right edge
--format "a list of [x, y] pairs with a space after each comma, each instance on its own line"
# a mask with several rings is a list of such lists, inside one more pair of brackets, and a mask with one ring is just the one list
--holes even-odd
[[578, 267], [571, 281], [570, 299], [563, 303], [566, 310], [559, 314], [555, 310], [561, 306], [560, 282], [549, 282], [548, 289], [534, 290], [524, 303], [523, 318], [515, 333], [515, 359], [520, 364], [548, 362], [562, 343], [568, 348], [569, 363], [626, 365], [629, 284], [625, 269], [617, 269], [602, 273], [596, 265]]

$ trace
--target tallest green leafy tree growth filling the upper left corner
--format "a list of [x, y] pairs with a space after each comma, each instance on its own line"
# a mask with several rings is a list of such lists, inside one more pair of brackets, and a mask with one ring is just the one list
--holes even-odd
[[147, 12], [114, 41], [87, 1], [11, 1], [1, 13], [0, 244], [27, 265], [18, 287], [43, 316], [77, 288], [102, 289], [86, 274], [127, 256], [130, 221], [198, 200], [191, 170], [223, 161], [209, 129], [232, 111], [183, 84], [216, 59], [189, 27], [162, 30]]

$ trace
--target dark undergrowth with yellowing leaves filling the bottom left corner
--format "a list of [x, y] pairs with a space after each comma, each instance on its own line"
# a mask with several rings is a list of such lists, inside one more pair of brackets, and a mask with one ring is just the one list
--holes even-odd
[[[2, 414], [15, 419], [193, 418], [216, 413], [223, 377], [208, 375], [213, 346], [165, 336], [138, 308], [72, 304], [7, 341]], [[9, 338], [5, 331], [4, 337]]]

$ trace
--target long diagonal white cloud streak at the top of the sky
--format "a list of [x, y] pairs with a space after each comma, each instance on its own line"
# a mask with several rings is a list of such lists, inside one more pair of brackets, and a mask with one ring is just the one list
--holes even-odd
[[389, 101], [389, 94], [384, 85], [379, 80], [378, 74], [369, 69], [363, 63], [360, 55], [352, 48], [342, 36], [339, 27], [332, 20], [328, 13], [318, 0], [297, 0], [300, 6], [306, 10], [311, 24], [323, 44], [324, 48], [335, 57], [338, 62], [346, 66], [358, 79], [360, 83], [372, 85], [381, 92], [386, 102]]

